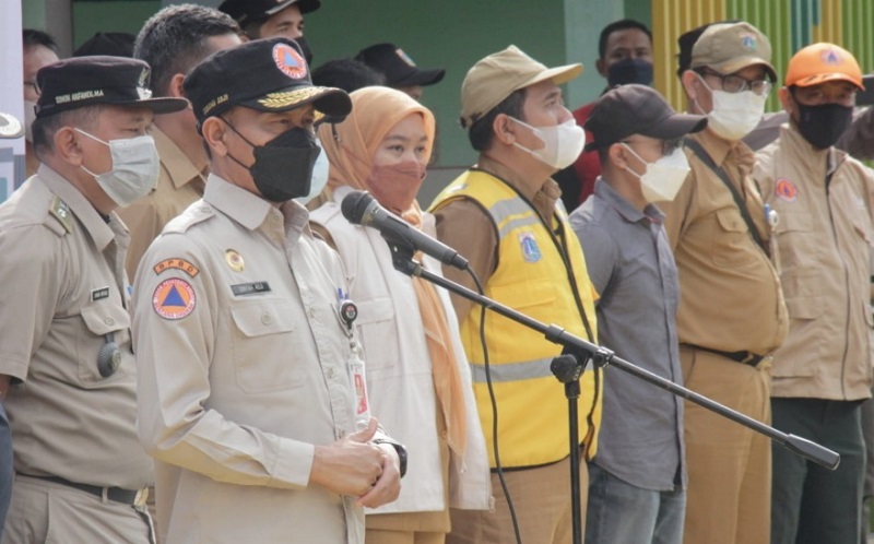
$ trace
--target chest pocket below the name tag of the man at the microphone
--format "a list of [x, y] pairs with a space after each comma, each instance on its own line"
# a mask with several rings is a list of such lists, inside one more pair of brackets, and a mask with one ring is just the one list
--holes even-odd
[[295, 331], [294, 306], [285, 300], [252, 300], [231, 309], [237, 385], [247, 393], [282, 391], [304, 380], [299, 357], [307, 350]]

